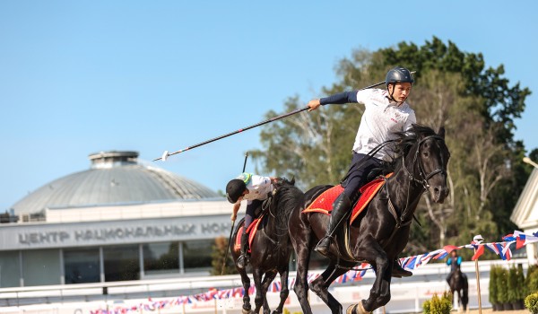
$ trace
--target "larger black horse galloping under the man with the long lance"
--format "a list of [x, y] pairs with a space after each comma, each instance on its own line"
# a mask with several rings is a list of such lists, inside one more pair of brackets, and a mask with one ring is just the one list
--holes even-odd
[[[361, 262], [368, 262], [376, 273], [368, 300], [351, 305], [347, 313], [369, 313], [390, 301], [393, 263], [409, 240], [412, 217], [427, 190], [434, 202], [442, 203], [448, 195], [445, 129], [436, 134], [430, 127], [413, 125], [408, 133], [396, 134], [394, 174], [371, 200], [351, 226], [336, 235], [330, 247], [329, 266], [309, 288], [333, 313], [342, 313], [342, 305], [328, 292], [334, 280]], [[305, 193], [306, 206], [332, 186], [317, 186]], [[297, 293], [303, 313], [310, 314], [308, 304], [308, 261], [311, 250], [324, 237], [329, 216], [301, 213], [290, 217], [291, 242], [297, 254]], [[345, 238], [345, 239], [343, 239]], [[348, 248], [343, 251], [343, 245]], [[350, 258], [351, 257], [351, 258]]]

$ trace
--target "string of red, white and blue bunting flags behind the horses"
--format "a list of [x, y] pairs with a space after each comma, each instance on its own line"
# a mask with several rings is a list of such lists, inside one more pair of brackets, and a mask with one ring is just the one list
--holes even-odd
[[[538, 232], [534, 232], [533, 234], [525, 234], [522, 231], [514, 231], [514, 233], [510, 233], [504, 237], [502, 237], [502, 241], [500, 242], [490, 242], [490, 243], [483, 243], [483, 239], [481, 235], [477, 235], [473, 238], [470, 244], [462, 245], [462, 246], [454, 246], [454, 245], [447, 245], [443, 249], [436, 249], [431, 252], [422, 253], [416, 256], [412, 257], [402, 257], [399, 259], [400, 264], [407, 269], [416, 269], [419, 266], [424, 266], [430, 262], [431, 259], [442, 259], [444, 257], [447, 257], [447, 255], [453, 251], [454, 249], [473, 249], [474, 255], [472, 257], [472, 260], [476, 260], [479, 257], [482, 256], [485, 249], [490, 250], [494, 254], [498, 255], [502, 260], [510, 260], [512, 258], [512, 251], [510, 249], [510, 246], [514, 243], [516, 243], [516, 249], [522, 249], [525, 247], [525, 245], [529, 243], [535, 243], [538, 242]], [[366, 274], [368, 270], [371, 270], [372, 267], [368, 263], [362, 263], [358, 268], [351, 269], [347, 273], [339, 276], [335, 283], [352, 283], [356, 281], [362, 280], [362, 277]], [[311, 283], [314, 281], [321, 273], [308, 273], [308, 283]], [[288, 280], [289, 288], [292, 289], [293, 285], [295, 284], [296, 278], [291, 277]], [[280, 282], [273, 282], [270, 284], [268, 291], [269, 292], [280, 292], [282, 289], [282, 285]], [[256, 293], [256, 287], [251, 286], [248, 290], [248, 294], [254, 294]], [[188, 295], [188, 296], [180, 296], [178, 298], [168, 299], [168, 300], [161, 300], [161, 301], [152, 301], [152, 299], [148, 299], [147, 302], [140, 303], [138, 305], [131, 305], [131, 306], [118, 306], [114, 309], [99, 309], [99, 310], [91, 310], [91, 314], [125, 314], [129, 311], [140, 311], [140, 310], [149, 310], [149, 311], [155, 311], [155, 310], [162, 310], [162, 309], [168, 309], [175, 306], [181, 306], [184, 304], [191, 304], [199, 301], [213, 301], [213, 300], [227, 300], [230, 298], [242, 298], [245, 294], [245, 290], [240, 288], [231, 288], [231, 289], [225, 289], [225, 290], [217, 290], [217, 289], [210, 289], [208, 292], [194, 294], [194, 295]]]

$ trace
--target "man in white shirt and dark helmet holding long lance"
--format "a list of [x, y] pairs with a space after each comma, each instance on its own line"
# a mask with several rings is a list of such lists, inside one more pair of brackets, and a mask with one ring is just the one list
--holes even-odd
[[[360, 197], [359, 188], [367, 183], [369, 172], [379, 168], [381, 162], [391, 153], [388, 146], [377, 148], [390, 140], [393, 133], [406, 131], [416, 123], [414, 110], [405, 101], [411, 92], [413, 82], [408, 69], [396, 66], [386, 74], [386, 91], [366, 89], [341, 92], [308, 102], [308, 111], [326, 104], [364, 103], [365, 105], [353, 144], [351, 167], [341, 182], [344, 190], [334, 200], [329, 227], [325, 237], [317, 244], [318, 253], [327, 256], [337, 228], [342, 225], [352, 205]], [[374, 152], [373, 156], [370, 155], [371, 152]], [[397, 260], [393, 265], [393, 276], [412, 275], [411, 272], [404, 270]]]

